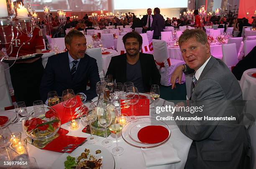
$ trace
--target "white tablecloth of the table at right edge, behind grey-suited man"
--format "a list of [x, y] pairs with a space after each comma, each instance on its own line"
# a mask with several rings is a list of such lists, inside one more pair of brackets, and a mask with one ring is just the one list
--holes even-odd
[[256, 68], [248, 69], [243, 72], [240, 81], [243, 100], [256, 100], [256, 78], [251, 76], [252, 73], [256, 73]]

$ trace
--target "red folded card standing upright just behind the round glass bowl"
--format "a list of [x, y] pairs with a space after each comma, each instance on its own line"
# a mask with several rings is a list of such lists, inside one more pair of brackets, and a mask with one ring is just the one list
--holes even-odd
[[70, 111], [70, 108], [65, 108], [62, 105], [62, 103], [52, 106], [52, 108], [54, 108], [54, 110], [59, 113], [61, 124], [67, 123], [72, 118], [79, 117], [78, 115], [81, 112], [82, 101], [79, 96], [76, 96], [76, 97], [77, 97], [77, 104], [73, 108], [71, 108], [71, 111]]

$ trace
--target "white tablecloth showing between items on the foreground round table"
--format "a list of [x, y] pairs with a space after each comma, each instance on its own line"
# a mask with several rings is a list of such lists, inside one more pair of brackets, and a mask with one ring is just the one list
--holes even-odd
[[[148, 98], [150, 98], [150, 96], [148, 94], [145, 94], [145, 95], [148, 96]], [[96, 100], [97, 100], [97, 98], [94, 98], [92, 101], [96, 101]], [[150, 102], [152, 103], [152, 100], [150, 100]], [[165, 106], [168, 104], [174, 106], [174, 103], [164, 101], [161, 98], [156, 102], [156, 105], [158, 105], [158, 106]], [[30, 112], [32, 109], [33, 109], [32, 106], [27, 107], [28, 112]], [[15, 110], [10, 110], [10, 111], [15, 112]], [[152, 109], [150, 109], [149, 114], [152, 113], [151, 111], [152, 111]], [[120, 111], [119, 111], [119, 113], [120, 113]], [[155, 118], [155, 116], [136, 116], [136, 117], [138, 117], [138, 118], [141, 118], [141, 117]], [[26, 138], [27, 136], [26, 136], [25, 132], [23, 131], [22, 123], [24, 123], [24, 121], [10, 124], [9, 128], [12, 132], [21, 132], [22, 133], [21, 137]], [[142, 153], [143, 149], [140, 147], [135, 147], [135, 146], [128, 144], [121, 136], [121, 133], [118, 134], [118, 145], [124, 148], [124, 153], [120, 156], [113, 156], [114, 163], [115, 163], [115, 169], [131, 169], [131, 168], [134, 168], [134, 169], [146, 169], [146, 168], [148, 168], [148, 169], [167, 169], [167, 168], [168, 169], [183, 169], [185, 166], [185, 163], [187, 161], [187, 155], [188, 155], [192, 140], [189, 139], [184, 134], [182, 134], [182, 132], [179, 130], [178, 126], [176, 125], [175, 121], [171, 121], [170, 123], [168, 123], [168, 126], [171, 131], [171, 135], [170, 135], [169, 139], [161, 146], [149, 148], [149, 149], [153, 150], [154, 153], [148, 154], [148, 155], [151, 155], [151, 158], [153, 159], [152, 161], [154, 161], [155, 163], [158, 163], [156, 165], [154, 165], [154, 163], [153, 163], [153, 165], [151, 165], [151, 167], [146, 167], [146, 164], [145, 164], [145, 161], [143, 158], [143, 153]], [[61, 128], [67, 129], [69, 131], [69, 133], [67, 134], [68, 136], [79, 136], [79, 137], [90, 136], [90, 134], [86, 134], [86, 133], [82, 132], [84, 125], [82, 125], [81, 123], [79, 124], [79, 128], [76, 130], [71, 130], [70, 127], [67, 126], [67, 124], [62, 124]], [[85, 142], [84, 144], [81, 145], [81, 147], [86, 148], [88, 145], [100, 146], [101, 150], [104, 149], [106, 151], [109, 151], [111, 154], [111, 149], [113, 149], [116, 146], [115, 135], [110, 134], [108, 136], [108, 139], [111, 139], [113, 141], [113, 145], [108, 148], [103, 148], [101, 146], [101, 142], [104, 139], [105, 138], [100, 137], [99, 140], [95, 144], [87, 144]], [[171, 158], [170, 156], [172, 156], [172, 154], [174, 153], [174, 152], [168, 152], [167, 150], [166, 150], [167, 152], [165, 152], [164, 146], [169, 146], [169, 145], [172, 146], [173, 149], [175, 149], [177, 151], [177, 155], [178, 155], [180, 161], [176, 162], [174, 164], [165, 164], [165, 163], [159, 164], [159, 161], [161, 161], [162, 159]], [[59, 152], [38, 149], [37, 147], [35, 147], [31, 144], [28, 144], [27, 148], [28, 148], [29, 156], [34, 157], [36, 159], [38, 167], [40, 169], [51, 169], [54, 165], [56, 166], [56, 161], [57, 161], [57, 163], [60, 162], [60, 161], [58, 161], [58, 159], [63, 154], [63, 153], [59, 153]], [[74, 151], [76, 151], [76, 149]], [[159, 156], [159, 154], [160, 154], [160, 156]], [[161, 156], [161, 154], [170, 154], [170, 156], [169, 155]], [[68, 155], [69, 154], [67, 154], [67, 156]], [[103, 156], [102, 160], [104, 161], [104, 156]], [[150, 162], [150, 161], [148, 161], [148, 162]], [[61, 163], [64, 163], [64, 161], [61, 161]], [[104, 166], [102, 166], [102, 169], [105, 169]]]

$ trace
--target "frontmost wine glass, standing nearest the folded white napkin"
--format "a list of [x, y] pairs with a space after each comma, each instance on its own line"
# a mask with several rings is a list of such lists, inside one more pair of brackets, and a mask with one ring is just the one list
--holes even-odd
[[111, 133], [115, 134], [115, 139], [116, 139], [116, 147], [112, 149], [111, 153], [114, 156], [120, 156], [123, 154], [124, 149], [123, 147], [118, 146], [118, 134], [122, 130], [122, 120], [120, 114], [115, 115], [115, 119], [113, 119], [112, 123], [109, 126], [109, 130]]

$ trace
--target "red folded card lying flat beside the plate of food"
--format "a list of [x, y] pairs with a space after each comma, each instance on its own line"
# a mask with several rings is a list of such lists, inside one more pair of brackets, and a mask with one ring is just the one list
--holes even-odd
[[84, 137], [59, 135], [56, 139], [47, 144], [43, 150], [56, 151], [60, 153], [71, 153], [78, 146], [86, 141]]

